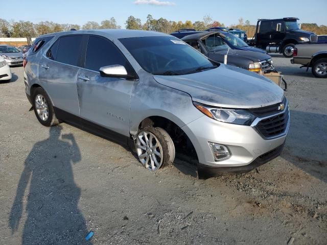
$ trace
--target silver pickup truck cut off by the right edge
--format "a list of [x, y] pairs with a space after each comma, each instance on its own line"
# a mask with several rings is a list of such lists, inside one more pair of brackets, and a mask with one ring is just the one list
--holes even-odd
[[292, 64], [311, 67], [316, 78], [327, 78], [327, 43], [297, 44], [294, 47]]

